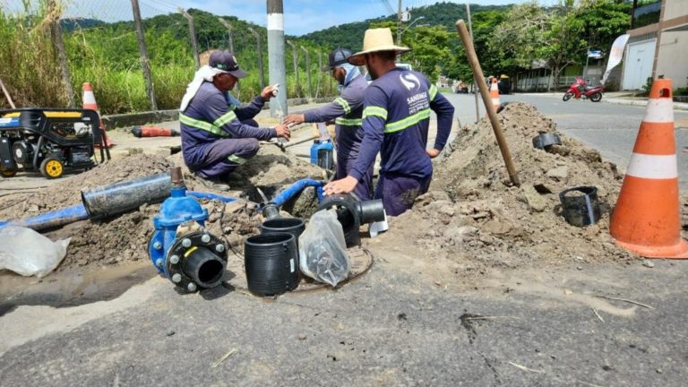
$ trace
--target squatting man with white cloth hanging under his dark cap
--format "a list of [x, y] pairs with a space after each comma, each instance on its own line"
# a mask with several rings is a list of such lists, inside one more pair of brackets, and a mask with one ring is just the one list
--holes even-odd
[[262, 90], [245, 107], [230, 98], [236, 82], [246, 73], [228, 51], [215, 51], [186, 88], [179, 107], [182, 152], [186, 166], [204, 179], [222, 183], [238, 166], [258, 152], [259, 140], [289, 139], [287, 125], [257, 127], [253, 117], [275, 92]]

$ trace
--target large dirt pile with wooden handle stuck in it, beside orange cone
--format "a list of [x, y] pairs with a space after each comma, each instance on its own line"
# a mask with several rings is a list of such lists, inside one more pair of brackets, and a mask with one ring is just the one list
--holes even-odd
[[[435, 163], [430, 191], [391, 221], [383, 246], [404, 244], [411, 249], [406, 254], [427, 264], [442, 261], [461, 276], [491, 268], [635, 259], [609, 236], [610, 208], [624, 177], [615, 165], [563, 133], [562, 146], [534, 148], [533, 137], [557, 133], [535, 107], [513, 103], [499, 118], [521, 186], [511, 184], [489, 122], [465, 127]], [[602, 211], [602, 219], [586, 228], [563, 219], [558, 195], [580, 185], [598, 188]]]

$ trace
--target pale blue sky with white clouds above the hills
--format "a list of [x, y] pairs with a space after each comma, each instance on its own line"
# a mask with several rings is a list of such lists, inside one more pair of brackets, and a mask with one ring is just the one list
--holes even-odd
[[[30, 0], [38, 3], [38, 0]], [[131, 6], [126, 0], [62, 0], [67, 4], [66, 17], [99, 19], [104, 22], [132, 20]], [[386, 0], [396, 9], [398, 0]], [[411, 9], [430, 5], [438, 0], [402, 0], [403, 7]], [[444, 0], [452, 1], [452, 0]], [[495, 5], [524, 3], [530, 0], [471, 0], [471, 4]], [[558, 0], [539, 0], [540, 4], [551, 5]], [[464, 4], [465, 1], [452, 1]], [[347, 22], [361, 22], [390, 14], [383, 0], [283, 0], [284, 29], [288, 35], [303, 35], [315, 30]], [[150, 17], [160, 13], [174, 13], [178, 7], [196, 8], [210, 13], [239, 19], [263, 27], [267, 24], [266, 0], [139, 0], [142, 16]], [[0, 0], [0, 7], [19, 10], [22, 0]]]

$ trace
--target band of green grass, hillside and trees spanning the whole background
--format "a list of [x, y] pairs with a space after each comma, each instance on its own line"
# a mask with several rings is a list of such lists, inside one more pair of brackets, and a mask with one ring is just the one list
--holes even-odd
[[[48, 10], [47, 0], [39, 0], [38, 13], [10, 16], [0, 9], [0, 78], [8, 86], [18, 106], [66, 106], [62, 73], [51, 39], [51, 25], [61, 14]], [[555, 73], [572, 64], [584, 64], [588, 48], [608, 50], [613, 40], [629, 28], [631, 5], [619, 0], [560, 0], [554, 7], [542, 7], [537, 0], [519, 5], [471, 5], [474, 44], [486, 75], [514, 75], [528, 70], [534, 62]], [[189, 10], [194, 17], [201, 52], [228, 47], [228, 31], [217, 15]], [[403, 32], [402, 44], [412, 51], [402, 57], [430, 79], [446, 75], [469, 80], [472, 74], [454, 23], [466, 19], [464, 4], [437, 3], [412, 10], [412, 20], [424, 19]], [[263, 69], [268, 82], [267, 31], [235, 16], [224, 16], [232, 23], [234, 46], [239, 63], [249, 73], [236, 90], [242, 100], [260, 91], [256, 30], [262, 41]], [[365, 30], [390, 27], [396, 36], [396, 15], [342, 24], [330, 29], [288, 37], [297, 47], [311, 53], [309, 72], [314, 94], [336, 93], [328, 73], [319, 71], [318, 55], [326, 61], [334, 47], [360, 49]], [[406, 29], [409, 23], [403, 23]], [[64, 45], [73, 90], [81, 97], [82, 82], [93, 84], [99, 106], [106, 114], [149, 109], [133, 22], [105, 23], [98, 20], [63, 20]], [[159, 108], [176, 108], [193, 77], [195, 64], [185, 18], [178, 13], [144, 20]], [[305, 55], [298, 50], [299, 82], [292, 65], [292, 50], [287, 48], [289, 97], [305, 97]], [[0, 107], [6, 107], [4, 100]]]

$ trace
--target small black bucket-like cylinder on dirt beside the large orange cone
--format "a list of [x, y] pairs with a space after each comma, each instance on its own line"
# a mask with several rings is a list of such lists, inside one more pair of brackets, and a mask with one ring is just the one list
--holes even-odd
[[[573, 194], [581, 193], [581, 194]], [[594, 186], [580, 186], [559, 193], [562, 202], [563, 219], [577, 227], [589, 226], [599, 220], [598, 189]]]

